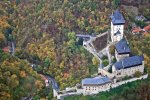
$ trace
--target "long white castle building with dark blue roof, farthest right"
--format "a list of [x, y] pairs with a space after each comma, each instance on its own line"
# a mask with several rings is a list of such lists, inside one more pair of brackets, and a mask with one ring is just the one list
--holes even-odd
[[117, 79], [123, 78], [125, 76], [133, 76], [137, 71], [144, 73], [143, 56], [127, 57], [116, 62], [112, 66], [112, 72]]

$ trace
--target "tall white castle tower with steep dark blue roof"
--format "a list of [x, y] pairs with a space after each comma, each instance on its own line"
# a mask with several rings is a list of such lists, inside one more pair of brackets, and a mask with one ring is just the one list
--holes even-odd
[[118, 42], [123, 38], [125, 20], [119, 10], [111, 15], [111, 41]]

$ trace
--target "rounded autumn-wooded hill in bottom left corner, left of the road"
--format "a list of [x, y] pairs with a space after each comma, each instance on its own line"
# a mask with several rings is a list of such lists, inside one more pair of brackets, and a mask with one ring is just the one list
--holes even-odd
[[20, 100], [40, 95], [45, 88], [42, 78], [23, 60], [0, 51], [0, 100]]

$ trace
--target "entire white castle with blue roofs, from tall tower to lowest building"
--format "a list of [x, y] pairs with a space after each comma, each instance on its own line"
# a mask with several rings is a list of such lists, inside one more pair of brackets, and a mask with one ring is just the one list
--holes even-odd
[[111, 42], [115, 43], [115, 62], [111, 66], [112, 73], [99, 69], [101, 76], [82, 80], [83, 94], [98, 93], [109, 90], [116, 80], [126, 76], [134, 77], [136, 72], [144, 73], [144, 57], [130, 56], [129, 43], [124, 38], [125, 19], [119, 10], [111, 15]]

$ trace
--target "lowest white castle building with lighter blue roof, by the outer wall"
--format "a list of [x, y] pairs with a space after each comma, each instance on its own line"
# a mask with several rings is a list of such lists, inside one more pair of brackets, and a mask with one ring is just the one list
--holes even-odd
[[111, 80], [108, 77], [97, 76], [94, 78], [85, 78], [82, 80], [83, 94], [95, 94], [110, 89]]

